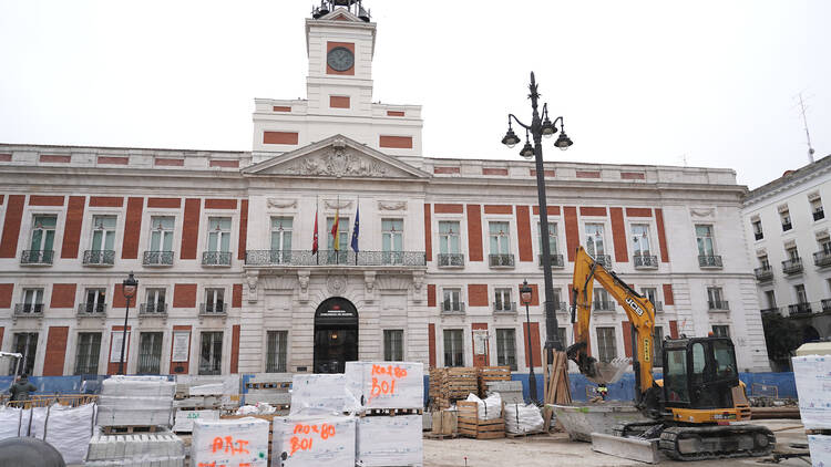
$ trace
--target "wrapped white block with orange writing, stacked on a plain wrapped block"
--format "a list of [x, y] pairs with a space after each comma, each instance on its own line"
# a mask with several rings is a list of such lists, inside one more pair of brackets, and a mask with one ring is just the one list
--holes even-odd
[[347, 387], [362, 408], [424, 406], [424, 365], [413, 362], [347, 362]]

